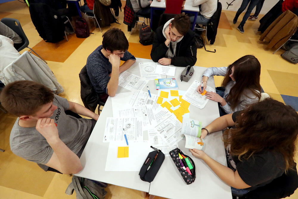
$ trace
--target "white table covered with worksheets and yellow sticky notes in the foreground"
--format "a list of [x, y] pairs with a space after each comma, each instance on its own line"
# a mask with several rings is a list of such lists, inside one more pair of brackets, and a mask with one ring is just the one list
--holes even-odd
[[[140, 76], [138, 67], [139, 62], [150, 61], [152, 60], [137, 58], [136, 63], [127, 71]], [[189, 82], [181, 82], [179, 77], [183, 69], [184, 67], [176, 67], [175, 72], [179, 90], [187, 90], [195, 79], [201, 80], [201, 75], [206, 70], [204, 67], [195, 67], [194, 77], [192, 77]], [[162, 78], [166, 78], [166, 76], [162, 75]], [[208, 85], [214, 88], [213, 77], [208, 79]], [[148, 86], [150, 87], [151, 93], [158, 93], [155, 89], [154, 81], [149, 81]], [[148, 92], [146, 87], [144, 87], [143, 91]], [[118, 87], [117, 93], [121, 92], [129, 92], [129, 90]], [[151, 195], [166, 198], [184, 198], [185, 193], [187, 193], [187, 198], [232, 198], [230, 187], [222, 182], [203, 161], [193, 157], [189, 150], [184, 148], [185, 139], [179, 142], [179, 148], [187, 155], [193, 157], [192, 159], [195, 161], [196, 167], [196, 180], [190, 185], [186, 185], [183, 181], [178, 169], [170, 157], [165, 157], [164, 163], [151, 184], [142, 181], [139, 177], [139, 172], [105, 171], [109, 143], [103, 143], [102, 141], [106, 118], [113, 117], [111, 107], [111, 97], [108, 97], [80, 158], [83, 170], [75, 175], [143, 192], [149, 192]], [[217, 117], [219, 117], [217, 102], [211, 100], [208, 101], [204, 109], [198, 109], [197, 107], [190, 105], [190, 118], [202, 121], [203, 126], [209, 124]], [[221, 141], [221, 135], [221, 132], [216, 132], [205, 139], [205, 152], [219, 163], [226, 165], [226, 156], [224, 144]], [[179, 189], [175, 189], [175, 187]]]

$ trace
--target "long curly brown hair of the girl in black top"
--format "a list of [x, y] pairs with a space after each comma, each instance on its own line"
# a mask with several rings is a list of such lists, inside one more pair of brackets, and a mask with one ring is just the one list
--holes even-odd
[[223, 141], [240, 161], [262, 151], [279, 152], [285, 158], [287, 170], [294, 164], [297, 135], [297, 112], [267, 98], [243, 110], [236, 118], [236, 128], [224, 131]]

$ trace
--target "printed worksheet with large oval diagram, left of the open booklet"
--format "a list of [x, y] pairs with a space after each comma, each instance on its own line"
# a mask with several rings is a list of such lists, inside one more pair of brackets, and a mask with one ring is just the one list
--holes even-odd
[[182, 137], [181, 135], [181, 122], [172, 114], [167, 108], [155, 114], [156, 126], [154, 129], [164, 139], [168, 146], [177, 144]]

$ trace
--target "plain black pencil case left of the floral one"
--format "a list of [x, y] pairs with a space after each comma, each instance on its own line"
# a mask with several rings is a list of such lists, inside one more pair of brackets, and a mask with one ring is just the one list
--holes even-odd
[[[152, 151], [148, 154], [148, 156], [147, 156], [145, 162], [143, 163], [141, 170], [139, 172], [141, 180], [146, 181], [146, 182], [153, 181], [160, 166], [162, 166], [162, 163], [164, 162], [164, 153], [161, 150], [156, 149], [152, 146], [151, 146], [151, 148], [153, 148], [154, 151]], [[154, 160], [155, 155], [157, 153], [158, 153], [158, 155], [156, 156], [155, 161], [150, 166], [150, 163]], [[149, 166], [150, 166], [150, 168], [148, 169]], [[148, 169], [148, 171], [147, 171], [147, 169]]]

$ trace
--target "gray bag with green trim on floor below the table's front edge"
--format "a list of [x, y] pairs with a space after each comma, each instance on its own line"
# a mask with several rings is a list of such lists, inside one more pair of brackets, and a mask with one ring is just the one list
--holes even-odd
[[72, 177], [72, 182], [68, 185], [65, 193], [72, 195], [76, 192], [77, 199], [102, 199], [107, 192], [101, 186], [93, 183], [91, 180], [77, 176]]

